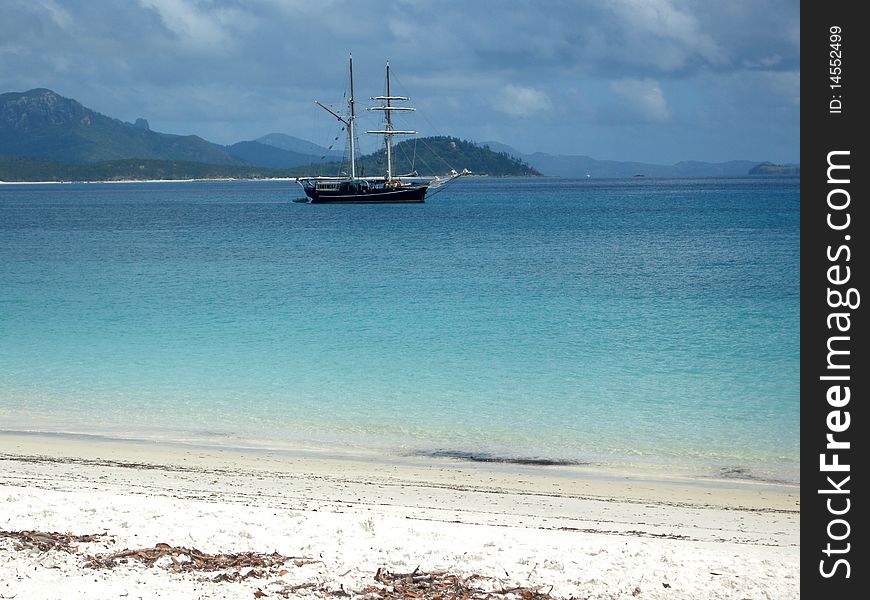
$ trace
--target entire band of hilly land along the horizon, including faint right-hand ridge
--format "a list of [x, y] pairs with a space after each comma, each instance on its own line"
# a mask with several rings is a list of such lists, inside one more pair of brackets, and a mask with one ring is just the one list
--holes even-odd
[[[222, 146], [196, 135], [153, 131], [144, 118], [129, 123], [93, 111], [52, 90], [0, 94], [0, 181], [263, 179], [340, 175], [341, 152], [282, 133]], [[653, 165], [588, 156], [523, 154], [499, 142], [451, 136], [395, 146], [399, 172], [443, 175], [467, 168], [492, 177], [722, 177], [799, 174], [799, 165], [770, 162], [682, 162]], [[385, 171], [383, 150], [363, 156], [363, 173]]]

